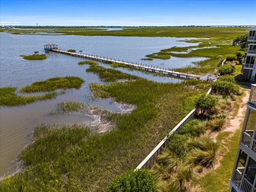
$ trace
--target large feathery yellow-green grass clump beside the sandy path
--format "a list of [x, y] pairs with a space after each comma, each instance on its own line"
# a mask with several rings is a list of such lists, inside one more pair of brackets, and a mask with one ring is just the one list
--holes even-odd
[[219, 149], [219, 143], [214, 141], [209, 135], [201, 135], [188, 142], [190, 151], [187, 161], [193, 165], [203, 165], [210, 167], [216, 160], [216, 153]]

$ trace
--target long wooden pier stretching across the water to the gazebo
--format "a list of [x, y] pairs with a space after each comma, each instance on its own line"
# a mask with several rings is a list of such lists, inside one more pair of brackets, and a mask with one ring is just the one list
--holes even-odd
[[81, 57], [81, 58], [85, 58], [85, 59], [91, 59], [91, 60], [97, 60], [97, 61], [107, 61], [107, 62], [111, 62], [111, 63], [121, 63], [121, 64], [124, 64], [128, 67], [131, 67], [131, 68], [138, 68], [138, 69], [144, 69], [146, 71], [151, 71], [151, 72], [159, 72], [159, 73], [162, 73], [162, 74], [167, 74], [167, 75], [170, 75], [170, 76], [173, 76], [173, 77], [180, 77], [180, 78], [186, 78], [186, 79], [201, 79], [201, 80], [204, 80], [204, 81], [210, 81], [211, 79], [207, 78], [207, 79], [203, 79], [201, 78], [200, 75], [194, 75], [194, 74], [190, 74], [190, 73], [180, 73], [178, 71], [174, 71], [174, 70], [170, 70], [170, 69], [161, 69], [161, 68], [155, 68], [155, 67], [150, 67], [150, 66], [147, 66], [147, 65], [138, 65], [137, 63], [134, 64], [134, 63], [129, 63], [128, 61], [125, 62], [125, 61], [117, 61], [117, 60], [113, 60], [113, 59], [108, 59], [108, 58], [105, 58], [105, 57], [98, 57], [98, 56], [95, 56], [95, 55], [90, 55], [90, 54], [82, 54], [82, 53], [73, 53], [73, 52], [68, 52], [68, 51], [63, 51], [63, 50], [60, 50], [60, 49], [52, 49], [51, 51], [54, 51], [54, 52], [57, 52], [57, 53], [63, 53], [63, 54], [69, 54], [69, 55], [72, 55], [72, 56], [75, 56], [75, 57]]

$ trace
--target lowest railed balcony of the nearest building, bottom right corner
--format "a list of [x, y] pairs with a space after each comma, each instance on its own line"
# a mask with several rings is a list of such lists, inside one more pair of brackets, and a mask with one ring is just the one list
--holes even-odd
[[[243, 176], [244, 167], [237, 167], [232, 181], [237, 185], [239, 189], [244, 192], [255, 192], [256, 188], [252, 186], [252, 184]], [[255, 174], [255, 170], [253, 169], [252, 174]]]

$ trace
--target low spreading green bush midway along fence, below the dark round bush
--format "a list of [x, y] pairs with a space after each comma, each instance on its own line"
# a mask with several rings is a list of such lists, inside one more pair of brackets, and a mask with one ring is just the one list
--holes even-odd
[[198, 119], [191, 120], [182, 127], [179, 133], [190, 134], [192, 137], [197, 137], [205, 132], [205, 126], [202, 126], [202, 124], [203, 122]]

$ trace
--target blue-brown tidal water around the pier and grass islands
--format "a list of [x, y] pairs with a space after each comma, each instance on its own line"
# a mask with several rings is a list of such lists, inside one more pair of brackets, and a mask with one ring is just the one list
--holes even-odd
[[[19, 55], [44, 53], [46, 43], [58, 44], [59, 49], [82, 50], [84, 53], [101, 55], [120, 60], [139, 62], [164, 68], [192, 65], [191, 62], [205, 58], [174, 58], [169, 60], [141, 61], [146, 54], [158, 52], [172, 46], [193, 46], [197, 43], [181, 42], [185, 38], [170, 37], [111, 37], [111, 36], [63, 36], [63, 35], [12, 35], [0, 33], [0, 86], [15, 86], [18, 89], [35, 81], [51, 77], [78, 76], [84, 79], [79, 90], [68, 90], [56, 99], [38, 101], [26, 106], [0, 108], [0, 177], [15, 171], [15, 159], [20, 151], [31, 142], [36, 125], [46, 124], [87, 124], [94, 121], [90, 116], [71, 114], [49, 116], [49, 111], [61, 101], [78, 101], [102, 109], [121, 111], [117, 103], [91, 98], [89, 84], [100, 82], [97, 75], [86, 73], [87, 65], [78, 66], [81, 58], [54, 52], [47, 53], [46, 60], [25, 60]], [[193, 38], [186, 38], [193, 39]], [[106, 67], [109, 67], [106, 65]], [[121, 69], [120, 69], [121, 70]], [[179, 83], [171, 77], [154, 76], [139, 71], [122, 69], [126, 73], [147, 78], [151, 81]]]

